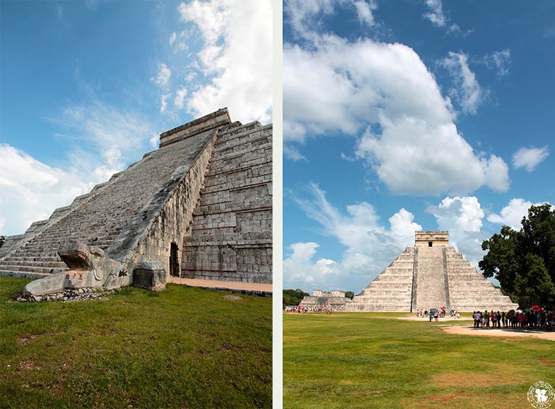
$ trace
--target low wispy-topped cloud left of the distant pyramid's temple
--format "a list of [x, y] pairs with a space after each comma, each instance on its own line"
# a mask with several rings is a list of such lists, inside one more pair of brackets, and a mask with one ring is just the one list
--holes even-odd
[[[314, 253], [304, 248], [302, 254], [311, 254], [302, 258], [302, 263], [300, 258], [289, 256], [287, 263], [284, 262], [284, 285], [288, 287], [300, 284], [301, 279], [311, 276], [316, 288], [329, 290], [340, 287], [345, 277], [349, 276], [351, 281], [355, 276], [352, 283], [359, 287], [352, 290], [361, 290], [401, 251], [413, 245], [414, 231], [422, 229], [413, 221], [412, 213], [403, 208], [388, 219], [388, 226], [383, 224], [370, 203], [350, 204], [341, 211], [327, 201], [325, 192], [316, 185], [311, 185], [307, 198], [296, 198], [296, 201], [308, 217], [322, 226], [325, 235], [335, 237], [345, 251], [341, 260], [319, 259], [325, 260], [319, 265], [312, 259], [316, 252], [314, 246], [311, 247]], [[305, 275], [299, 275], [301, 270]], [[315, 271], [321, 274], [318, 276]]]

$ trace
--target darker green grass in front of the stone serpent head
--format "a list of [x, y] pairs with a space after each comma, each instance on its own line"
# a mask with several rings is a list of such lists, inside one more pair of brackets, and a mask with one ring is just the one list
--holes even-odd
[[17, 303], [0, 278], [0, 408], [270, 408], [271, 299], [180, 285]]

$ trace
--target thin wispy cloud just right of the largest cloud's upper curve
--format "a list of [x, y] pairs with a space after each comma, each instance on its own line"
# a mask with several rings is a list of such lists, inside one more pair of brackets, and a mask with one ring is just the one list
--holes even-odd
[[451, 97], [459, 101], [463, 112], [475, 114], [487, 93], [481, 89], [476, 75], [468, 67], [468, 56], [450, 51], [449, 56], [441, 60], [441, 65], [453, 78], [455, 87], [450, 90]]

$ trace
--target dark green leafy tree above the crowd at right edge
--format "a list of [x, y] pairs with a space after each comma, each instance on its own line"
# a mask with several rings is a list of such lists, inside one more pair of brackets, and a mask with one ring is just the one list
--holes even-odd
[[555, 303], [555, 210], [531, 206], [520, 231], [503, 226], [481, 244], [484, 277], [495, 277], [522, 306]]

